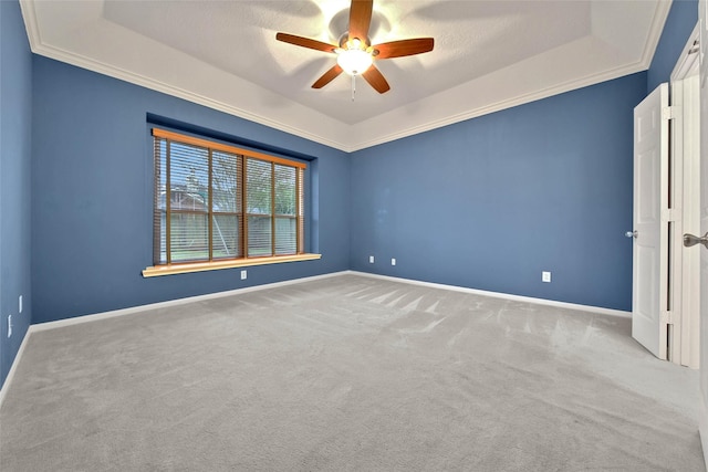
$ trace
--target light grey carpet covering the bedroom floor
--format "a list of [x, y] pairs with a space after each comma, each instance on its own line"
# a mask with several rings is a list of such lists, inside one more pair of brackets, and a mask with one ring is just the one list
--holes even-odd
[[0, 470], [705, 470], [629, 326], [347, 274], [38, 332]]

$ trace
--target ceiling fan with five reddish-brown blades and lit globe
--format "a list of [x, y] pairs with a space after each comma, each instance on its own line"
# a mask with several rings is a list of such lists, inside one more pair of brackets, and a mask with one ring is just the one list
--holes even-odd
[[361, 75], [378, 93], [391, 90], [384, 75], [374, 65], [374, 60], [402, 57], [433, 51], [433, 38], [399, 40], [372, 45], [368, 29], [372, 22], [373, 0], [352, 0], [350, 30], [340, 36], [339, 45], [324, 43], [294, 34], [278, 33], [275, 39], [285, 43], [336, 54], [336, 64], [317, 78], [312, 88], [322, 88], [342, 72], [353, 77]]

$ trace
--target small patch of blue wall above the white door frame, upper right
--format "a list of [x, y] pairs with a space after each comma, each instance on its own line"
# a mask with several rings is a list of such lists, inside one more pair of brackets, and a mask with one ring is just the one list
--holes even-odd
[[647, 72], [647, 91], [668, 82], [688, 36], [698, 22], [698, 0], [674, 0]]

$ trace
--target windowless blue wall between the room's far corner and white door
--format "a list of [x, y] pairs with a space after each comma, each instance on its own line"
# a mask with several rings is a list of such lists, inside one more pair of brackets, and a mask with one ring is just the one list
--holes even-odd
[[634, 74], [355, 153], [352, 268], [632, 310], [645, 92]]

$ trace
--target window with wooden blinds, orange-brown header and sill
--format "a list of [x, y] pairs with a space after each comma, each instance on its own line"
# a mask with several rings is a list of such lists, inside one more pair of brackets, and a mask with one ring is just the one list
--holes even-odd
[[153, 129], [153, 268], [143, 275], [293, 260], [304, 254], [306, 165]]

